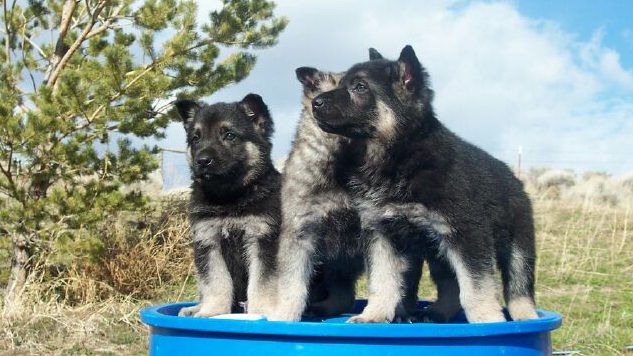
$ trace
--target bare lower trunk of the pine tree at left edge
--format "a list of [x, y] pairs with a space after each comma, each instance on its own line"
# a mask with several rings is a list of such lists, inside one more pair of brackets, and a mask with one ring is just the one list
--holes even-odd
[[4, 297], [3, 314], [12, 314], [20, 308], [22, 291], [30, 270], [30, 251], [26, 236], [20, 234], [13, 240], [11, 275]]

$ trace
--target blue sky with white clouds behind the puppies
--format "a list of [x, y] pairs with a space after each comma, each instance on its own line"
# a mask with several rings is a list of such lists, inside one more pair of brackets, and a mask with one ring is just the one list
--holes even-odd
[[[633, 1], [277, 1], [290, 20], [241, 83], [207, 98], [262, 95], [285, 155], [301, 110], [294, 69], [343, 71], [375, 47], [388, 58], [411, 44], [431, 75], [439, 119], [515, 164], [578, 172], [633, 171]], [[200, 20], [217, 6], [200, 2]], [[184, 148], [174, 123], [163, 147]], [[186, 182], [186, 162], [164, 170]], [[184, 173], [183, 173], [184, 172]]]

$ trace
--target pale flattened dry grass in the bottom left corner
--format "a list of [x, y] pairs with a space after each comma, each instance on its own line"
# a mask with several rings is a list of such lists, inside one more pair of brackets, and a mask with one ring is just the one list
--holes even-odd
[[138, 320], [145, 304], [115, 298], [74, 307], [28, 303], [19, 316], [0, 320], [0, 349], [7, 354], [145, 354], [147, 331]]

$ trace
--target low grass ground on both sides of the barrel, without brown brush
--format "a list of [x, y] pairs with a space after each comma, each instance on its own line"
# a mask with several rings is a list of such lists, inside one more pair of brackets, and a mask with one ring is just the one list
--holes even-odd
[[[561, 206], [550, 199], [537, 199], [534, 205], [538, 306], [564, 316], [563, 326], [552, 334], [554, 350], [623, 354], [624, 347], [633, 344], [633, 209]], [[358, 284], [358, 295], [367, 295], [364, 280]], [[428, 272], [420, 297], [435, 297]], [[120, 296], [80, 306], [32, 300], [19, 316], [0, 320], [0, 350], [145, 354], [148, 330], [138, 319], [140, 308], [195, 298], [190, 274], [179, 283], [162, 285], [151, 300]]]

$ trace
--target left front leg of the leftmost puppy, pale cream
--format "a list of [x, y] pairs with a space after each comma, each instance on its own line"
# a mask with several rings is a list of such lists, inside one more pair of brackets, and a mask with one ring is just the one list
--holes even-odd
[[192, 230], [200, 303], [182, 308], [178, 315], [211, 317], [230, 313], [233, 303], [233, 281], [222, 257], [220, 237], [213, 234], [215, 229], [210, 222], [198, 222], [193, 225]]

